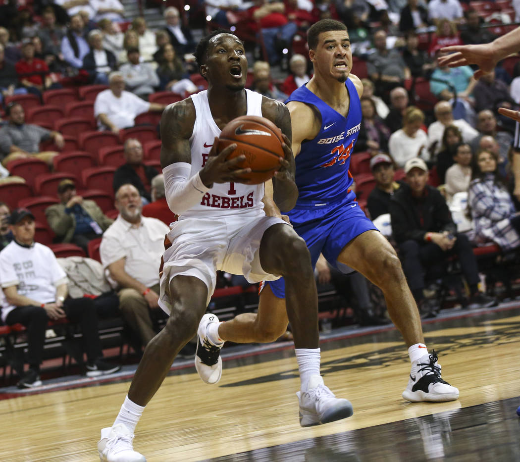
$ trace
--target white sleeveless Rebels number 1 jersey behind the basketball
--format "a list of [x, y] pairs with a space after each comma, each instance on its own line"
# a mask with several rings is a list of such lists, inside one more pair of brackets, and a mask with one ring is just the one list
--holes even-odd
[[[262, 95], [255, 91], [245, 90], [248, 113], [262, 117]], [[196, 119], [193, 133], [190, 137], [191, 175], [204, 166], [213, 146], [215, 137], [220, 135], [220, 129], [213, 120], [210, 103], [207, 100], [207, 90], [191, 95], [195, 106]], [[213, 188], [204, 194], [202, 201], [183, 213], [179, 220], [185, 218], [224, 217], [231, 215], [263, 216], [264, 183], [214, 183]]]

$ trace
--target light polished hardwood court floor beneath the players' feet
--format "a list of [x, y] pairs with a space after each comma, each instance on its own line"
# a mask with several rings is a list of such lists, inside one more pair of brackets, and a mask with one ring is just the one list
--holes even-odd
[[[428, 348], [439, 352], [443, 377], [460, 389], [458, 401], [408, 403], [402, 400], [401, 392], [410, 372], [406, 348], [396, 331], [381, 332], [322, 344], [322, 374], [336, 395], [353, 403], [354, 416], [349, 419], [307, 429], [300, 427], [294, 394], [299, 385], [297, 367], [292, 351], [285, 350], [226, 361], [218, 386], [203, 384], [197, 374], [191, 372], [167, 377], [141, 418], [135, 448], [145, 454], [149, 462], [220, 457], [220, 460], [236, 461], [447, 460], [444, 452], [430, 450], [428, 453], [426, 449], [432, 447], [426, 443], [428, 438], [433, 438], [435, 422], [443, 423], [448, 418], [449, 424], [450, 415], [467, 411], [470, 406], [508, 399], [504, 401], [508, 404], [501, 406], [506, 414], [510, 413], [508, 425], [513, 428], [516, 425], [516, 432], [505, 432], [505, 437], [498, 433], [495, 443], [517, 447], [518, 423], [514, 412], [520, 399], [511, 398], [520, 395], [520, 309], [451, 319], [427, 324], [424, 328]], [[3, 422], [0, 461], [98, 460], [99, 430], [111, 425], [127, 389], [128, 382], [122, 382], [0, 402]], [[405, 419], [420, 422], [424, 431], [407, 432]], [[489, 424], [491, 432], [505, 425], [503, 418], [489, 412], [480, 413], [479, 419]], [[446, 428], [443, 425], [439, 430], [441, 443], [451, 438], [450, 444], [457, 442], [462, 447], [470, 444], [470, 449], [475, 450], [475, 445], [484, 441], [483, 438], [470, 439], [470, 433], [451, 434], [446, 430], [449, 425]], [[371, 428], [375, 431], [367, 436]], [[378, 429], [386, 428], [393, 431], [385, 430], [386, 433], [378, 435]], [[493, 440], [492, 434], [485, 442], [488, 440]], [[309, 447], [309, 441], [315, 442], [314, 449], [310, 455], [304, 452], [302, 456], [301, 451]], [[348, 457], [336, 457], [337, 453], [331, 450], [334, 441], [349, 444]], [[420, 451], [363, 456], [364, 447], [373, 450], [383, 441], [386, 444], [392, 441], [397, 448], [409, 444]], [[272, 446], [279, 446], [280, 452], [255, 451]], [[224, 457], [240, 453], [241, 456]], [[257, 453], [264, 456], [257, 458], [254, 456]], [[508, 454], [495, 460], [518, 460]]]

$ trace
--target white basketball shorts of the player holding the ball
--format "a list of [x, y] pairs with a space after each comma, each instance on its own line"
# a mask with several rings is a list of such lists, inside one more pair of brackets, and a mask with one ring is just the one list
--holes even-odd
[[275, 281], [279, 275], [266, 273], [258, 249], [264, 232], [284, 223], [277, 217], [186, 218], [172, 224], [168, 239], [172, 246], [163, 254], [159, 306], [171, 311], [167, 288], [175, 276], [194, 276], [207, 286], [206, 305], [215, 290], [216, 271], [243, 274], [250, 283]]

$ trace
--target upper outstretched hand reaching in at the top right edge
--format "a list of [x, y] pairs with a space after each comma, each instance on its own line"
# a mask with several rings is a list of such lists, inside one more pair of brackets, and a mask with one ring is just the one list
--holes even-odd
[[438, 59], [439, 66], [448, 66], [449, 68], [457, 68], [459, 66], [467, 66], [476, 64], [479, 69], [475, 71], [473, 76], [480, 78], [484, 74], [495, 69], [498, 57], [493, 51], [493, 47], [489, 44], [484, 45], [453, 45], [440, 49], [443, 53], [451, 53]]

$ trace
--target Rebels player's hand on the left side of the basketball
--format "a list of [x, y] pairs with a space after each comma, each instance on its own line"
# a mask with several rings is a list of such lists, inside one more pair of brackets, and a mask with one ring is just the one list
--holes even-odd
[[206, 165], [200, 170], [200, 179], [204, 185], [211, 188], [213, 183], [244, 182], [240, 179], [240, 176], [251, 173], [251, 168], [237, 169], [237, 166], [245, 161], [245, 155], [239, 155], [228, 161], [226, 157], [233, 152], [237, 145], [235, 143], [230, 144], [218, 153], [217, 146], [218, 138], [215, 137]]

